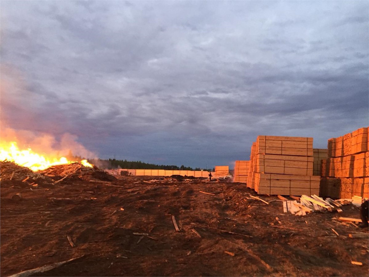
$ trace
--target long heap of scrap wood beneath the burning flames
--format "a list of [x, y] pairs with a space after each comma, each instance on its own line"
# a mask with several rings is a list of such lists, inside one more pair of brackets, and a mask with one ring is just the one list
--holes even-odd
[[33, 172], [27, 167], [22, 167], [11, 161], [0, 162], [0, 177], [1, 180], [36, 180], [36, 179], [48, 179], [52, 184], [56, 184], [67, 177], [77, 177], [82, 179], [97, 179], [103, 181], [113, 181], [115, 177], [107, 174], [105, 171], [100, 170], [96, 166], [85, 167], [80, 163], [71, 163], [63, 165], [55, 165], [45, 170]]

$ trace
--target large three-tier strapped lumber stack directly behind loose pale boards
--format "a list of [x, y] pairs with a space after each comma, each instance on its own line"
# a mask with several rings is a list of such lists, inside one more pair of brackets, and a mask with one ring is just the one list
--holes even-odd
[[313, 175], [313, 138], [258, 136], [251, 155], [248, 187], [258, 194], [319, 194]]

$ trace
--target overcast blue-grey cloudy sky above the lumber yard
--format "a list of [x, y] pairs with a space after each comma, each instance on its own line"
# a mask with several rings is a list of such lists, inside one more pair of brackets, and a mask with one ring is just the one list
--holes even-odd
[[0, 5], [3, 134], [213, 168], [259, 135], [327, 148], [369, 125], [368, 1]]

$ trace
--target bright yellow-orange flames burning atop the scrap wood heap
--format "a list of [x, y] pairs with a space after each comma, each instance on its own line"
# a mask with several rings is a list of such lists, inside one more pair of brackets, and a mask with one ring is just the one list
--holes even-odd
[[[10, 143], [0, 143], [0, 161], [14, 161], [14, 163], [23, 167], [28, 167], [32, 171], [44, 170], [53, 165], [70, 164], [76, 161], [69, 161], [66, 157], [61, 158], [47, 158], [32, 151], [31, 148], [27, 150], [20, 150], [15, 141]], [[87, 160], [79, 161], [86, 167], [93, 167]]]

